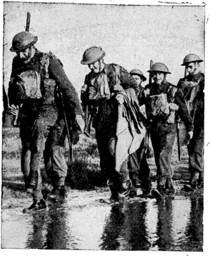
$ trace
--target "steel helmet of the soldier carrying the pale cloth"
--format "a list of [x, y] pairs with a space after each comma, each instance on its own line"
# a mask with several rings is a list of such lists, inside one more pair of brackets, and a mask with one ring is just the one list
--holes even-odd
[[101, 47], [92, 46], [86, 49], [83, 53], [83, 59], [81, 60], [81, 64], [87, 65], [95, 63], [101, 58], [104, 58], [105, 54], [105, 51], [103, 51]]

